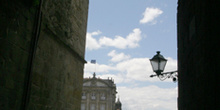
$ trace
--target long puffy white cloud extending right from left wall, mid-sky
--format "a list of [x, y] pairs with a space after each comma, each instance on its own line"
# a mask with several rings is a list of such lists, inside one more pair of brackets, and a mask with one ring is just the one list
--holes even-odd
[[103, 46], [115, 47], [119, 49], [136, 48], [141, 40], [141, 30], [139, 28], [133, 31], [126, 37], [115, 36], [114, 38], [103, 36], [96, 40], [93, 36], [101, 34], [100, 31], [87, 33], [86, 48], [89, 50], [99, 49]]

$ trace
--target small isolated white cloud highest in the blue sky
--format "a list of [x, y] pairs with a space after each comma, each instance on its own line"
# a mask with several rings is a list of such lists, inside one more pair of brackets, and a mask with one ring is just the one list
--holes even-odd
[[154, 19], [159, 15], [161, 15], [162, 13], [163, 11], [158, 8], [147, 7], [145, 12], [143, 13], [144, 17], [140, 20], [140, 23], [145, 24], [152, 22], [153, 24], [156, 24], [156, 21]]

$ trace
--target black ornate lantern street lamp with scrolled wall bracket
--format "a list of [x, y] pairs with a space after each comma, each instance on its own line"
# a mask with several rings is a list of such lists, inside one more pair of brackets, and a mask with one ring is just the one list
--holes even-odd
[[178, 79], [177, 71], [162, 73], [165, 66], [166, 66], [167, 59], [165, 59], [160, 54], [160, 51], [157, 51], [157, 54], [154, 55], [154, 57], [152, 59], [150, 59], [150, 62], [151, 62], [151, 66], [153, 68], [153, 71], [156, 73], [156, 75], [150, 75], [150, 77], [157, 76], [161, 81], [163, 81], [167, 78], [172, 78], [174, 82], [177, 81], [177, 79]]

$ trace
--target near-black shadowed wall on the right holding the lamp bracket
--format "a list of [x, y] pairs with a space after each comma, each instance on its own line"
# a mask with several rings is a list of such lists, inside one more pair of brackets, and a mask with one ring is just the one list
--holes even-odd
[[219, 1], [178, 1], [179, 110], [219, 108]]

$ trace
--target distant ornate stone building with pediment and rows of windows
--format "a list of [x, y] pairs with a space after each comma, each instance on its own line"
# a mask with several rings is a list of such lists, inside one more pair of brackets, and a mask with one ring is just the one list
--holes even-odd
[[115, 110], [116, 85], [111, 79], [92, 78], [83, 81], [81, 110]]

